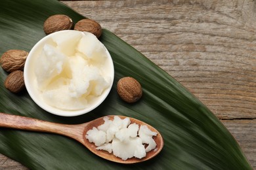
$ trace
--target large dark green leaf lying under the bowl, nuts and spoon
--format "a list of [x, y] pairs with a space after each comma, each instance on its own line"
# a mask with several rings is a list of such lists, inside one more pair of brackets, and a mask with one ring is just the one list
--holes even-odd
[[[30, 51], [45, 36], [43, 22], [66, 14], [77, 22], [83, 16], [54, 0], [1, 0], [0, 53]], [[0, 128], [0, 152], [30, 169], [252, 169], [234, 137], [218, 118], [179, 82], [126, 42], [104, 29], [100, 41], [114, 60], [114, 86], [97, 109], [75, 117], [54, 116], [40, 109], [28, 92], [12, 94], [0, 69], [0, 112], [79, 124], [108, 114], [131, 116], [160, 131], [165, 145], [156, 158], [134, 165], [103, 160], [73, 139], [48, 133]], [[119, 99], [116, 82], [133, 76], [143, 88], [139, 102]]]

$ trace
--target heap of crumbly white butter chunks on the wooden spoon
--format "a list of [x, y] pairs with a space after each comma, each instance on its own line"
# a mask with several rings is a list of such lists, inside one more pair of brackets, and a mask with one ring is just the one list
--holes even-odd
[[114, 116], [114, 120], [106, 116], [103, 120], [104, 124], [93, 127], [85, 135], [90, 143], [95, 143], [97, 150], [106, 150], [127, 160], [133, 157], [144, 158], [147, 152], [156, 148], [153, 136], [157, 133], [148, 129], [148, 126], [131, 124], [130, 118], [122, 120], [119, 116]]

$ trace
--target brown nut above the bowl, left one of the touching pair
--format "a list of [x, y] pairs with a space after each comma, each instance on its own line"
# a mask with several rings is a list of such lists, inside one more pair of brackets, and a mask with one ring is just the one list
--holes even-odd
[[43, 24], [43, 31], [45, 31], [46, 35], [54, 33], [56, 31], [62, 31], [70, 29], [73, 25], [72, 19], [69, 16], [56, 14], [50, 16], [45, 20]]

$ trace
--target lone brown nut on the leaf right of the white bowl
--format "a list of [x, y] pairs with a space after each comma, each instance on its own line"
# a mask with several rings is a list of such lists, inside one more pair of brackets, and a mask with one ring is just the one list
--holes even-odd
[[118, 80], [117, 93], [123, 101], [134, 103], [142, 96], [142, 88], [135, 78], [126, 76]]

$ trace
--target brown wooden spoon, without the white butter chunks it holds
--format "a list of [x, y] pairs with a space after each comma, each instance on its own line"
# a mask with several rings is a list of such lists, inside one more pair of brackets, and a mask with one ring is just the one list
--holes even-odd
[[[114, 119], [114, 116], [108, 116], [110, 120]], [[125, 116], [119, 116], [121, 119], [126, 118]], [[121, 158], [117, 158], [114, 156], [114, 154], [110, 154], [104, 150], [96, 150], [96, 146], [94, 143], [89, 143], [88, 139], [85, 138], [85, 134], [89, 129], [92, 129], [93, 127], [98, 127], [101, 124], [104, 124], [103, 117], [97, 118], [96, 120], [93, 120], [91, 122], [87, 122], [85, 124], [57, 124], [53, 122], [46, 122], [43, 120], [37, 120], [34, 118], [28, 118], [24, 116], [15, 116], [11, 114], [5, 114], [0, 113], [0, 127], [9, 127], [14, 129], [24, 129], [28, 131], [41, 131], [41, 132], [47, 132], [47, 133], [56, 133], [59, 135], [64, 135], [67, 137], [71, 137], [80, 143], [82, 143], [84, 146], [86, 146], [91, 152], [94, 154], [110, 161], [115, 161], [117, 163], [138, 163], [141, 161], [149, 160], [150, 158], [153, 158], [157, 154], [160, 153], [161, 149], [163, 148], [163, 138], [161, 137], [161, 134], [152, 126], [149, 126], [148, 124], [141, 122], [140, 120], [137, 120], [135, 118], [130, 118], [131, 124], [136, 123], [141, 125], [146, 125], [151, 131], [156, 131], [158, 135], [154, 137], [153, 139], [156, 141], [156, 149], [151, 150], [150, 152], [147, 152], [146, 157], [139, 159], [139, 158], [130, 158], [128, 160], [121, 160]]]

